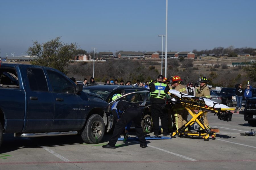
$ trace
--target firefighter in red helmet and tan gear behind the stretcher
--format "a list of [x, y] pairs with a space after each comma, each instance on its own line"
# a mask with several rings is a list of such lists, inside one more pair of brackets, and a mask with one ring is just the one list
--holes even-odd
[[[178, 92], [187, 94], [187, 88], [186, 86], [180, 84], [183, 80], [179, 76], [173, 76], [172, 82], [173, 86], [175, 87], [174, 90], [177, 90]], [[187, 115], [188, 111], [185, 109], [184, 106], [181, 105], [174, 105], [173, 108], [173, 119], [175, 121], [176, 129], [178, 130], [187, 123]], [[188, 131], [188, 129], [186, 129]]]

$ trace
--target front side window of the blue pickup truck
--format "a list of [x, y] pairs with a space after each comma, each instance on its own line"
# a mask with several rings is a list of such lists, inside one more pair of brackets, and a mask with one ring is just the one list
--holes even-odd
[[53, 92], [75, 93], [73, 84], [67, 78], [54, 71], [47, 70]]

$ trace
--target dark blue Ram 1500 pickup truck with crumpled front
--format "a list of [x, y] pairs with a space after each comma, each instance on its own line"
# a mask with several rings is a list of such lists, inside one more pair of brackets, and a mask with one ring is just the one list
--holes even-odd
[[56, 69], [36, 65], [1, 64], [0, 146], [3, 133], [19, 137], [81, 135], [85, 143], [100, 143], [112, 128], [109, 104], [82, 91]]

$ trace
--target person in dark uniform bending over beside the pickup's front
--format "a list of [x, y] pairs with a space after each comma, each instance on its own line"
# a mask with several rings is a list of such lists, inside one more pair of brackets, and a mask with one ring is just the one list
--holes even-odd
[[102, 146], [102, 148], [111, 148], [115, 149], [115, 144], [117, 142], [118, 137], [122, 133], [125, 126], [133, 120], [135, 124], [135, 129], [137, 133], [137, 137], [140, 141], [140, 147], [146, 148], [146, 139], [143, 135], [143, 129], [141, 127], [141, 118], [142, 118], [142, 111], [141, 108], [138, 105], [135, 105], [133, 103], [130, 103], [125, 100], [119, 100], [114, 103], [112, 106], [112, 114], [116, 115], [116, 112], [118, 112], [119, 119], [115, 117], [117, 120], [117, 123], [115, 124], [115, 129], [113, 131], [113, 135], [109, 140], [109, 143], [107, 145]]

